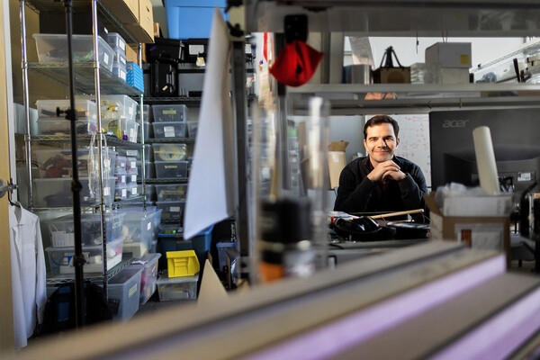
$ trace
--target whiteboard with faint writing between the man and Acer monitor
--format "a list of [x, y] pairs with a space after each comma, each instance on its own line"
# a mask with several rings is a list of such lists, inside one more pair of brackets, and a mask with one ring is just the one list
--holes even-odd
[[400, 124], [400, 145], [396, 155], [420, 166], [431, 187], [431, 155], [429, 150], [429, 114], [392, 115]]

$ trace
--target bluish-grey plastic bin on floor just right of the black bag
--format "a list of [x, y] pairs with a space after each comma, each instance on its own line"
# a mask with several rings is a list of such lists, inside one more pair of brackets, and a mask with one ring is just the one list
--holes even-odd
[[112, 276], [107, 283], [107, 298], [112, 320], [130, 320], [139, 311], [141, 274], [142, 269], [128, 266]]

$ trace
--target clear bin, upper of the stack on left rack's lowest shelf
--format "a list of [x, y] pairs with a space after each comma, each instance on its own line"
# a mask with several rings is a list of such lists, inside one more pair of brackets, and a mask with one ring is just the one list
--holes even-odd
[[[105, 213], [105, 238], [107, 242], [121, 238], [124, 214]], [[53, 247], [73, 247], [75, 244], [73, 215], [49, 221], [50, 241]], [[81, 215], [81, 241], [83, 246], [102, 244], [101, 214]]]

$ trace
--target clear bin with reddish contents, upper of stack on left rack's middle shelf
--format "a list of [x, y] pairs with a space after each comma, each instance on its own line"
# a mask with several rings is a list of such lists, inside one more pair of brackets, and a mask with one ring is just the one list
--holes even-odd
[[[78, 172], [81, 176], [87, 176], [88, 172], [99, 171], [99, 164], [97, 163], [97, 149], [94, 150], [93, 162], [90, 159], [90, 151], [87, 148], [79, 148], [77, 151]], [[33, 151], [34, 158], [38, 162], [40, 168], [40, 177], [66, 177], [71, 176], [71, 149], [70, 148], [40, 148]], [[107, 151], [108, 157], [105, 158], [105, 151], [102, 153], [103, 157], [103, 175], [105, 177], [111, 177], [114, 172], [114, 164], [116, 158], [116, 152]]]

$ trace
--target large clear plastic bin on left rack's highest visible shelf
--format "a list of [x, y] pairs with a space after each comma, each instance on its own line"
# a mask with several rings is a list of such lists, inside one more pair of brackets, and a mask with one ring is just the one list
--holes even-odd
[[[35, 33], [38, 59], [40, 62], [67, 62], [67, 35]], [[112, 71], [114, 52], [105, 40], [98, 37], [98, 59], [103, 68]], [[94, 36], [73, 35], [73, 62], [94, 61]]]

